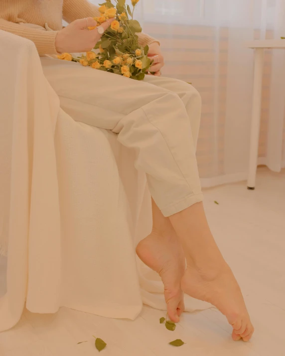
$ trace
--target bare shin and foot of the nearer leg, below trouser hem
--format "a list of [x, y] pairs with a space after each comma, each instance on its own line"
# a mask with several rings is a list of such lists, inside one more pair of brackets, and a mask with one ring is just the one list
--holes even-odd
[[186, 254], [182, 290], [215, 305], [233, 326], [233, 340], [250, 340], [254, 328], [240, 287], [211, 234], [203, 204], [194, 204], [169, 220]]

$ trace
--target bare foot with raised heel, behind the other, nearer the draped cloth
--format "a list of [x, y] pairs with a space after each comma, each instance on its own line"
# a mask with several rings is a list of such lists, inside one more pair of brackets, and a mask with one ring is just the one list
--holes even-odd
[[180, 283], [186, 268], [185, 255], [178, 238], [152, 232], [138, 244], [136, 251], [142, 262], [160, 275], [168, 316], [178, 323], [185, 309]]

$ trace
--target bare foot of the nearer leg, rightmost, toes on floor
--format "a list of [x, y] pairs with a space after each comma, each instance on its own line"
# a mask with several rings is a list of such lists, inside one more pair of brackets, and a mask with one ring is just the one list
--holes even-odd
[[193, 298], [216, 306], [233, 327], [234, 341], [249, 341], [254, 333], [238, 282], [225, 263], [219, 270], [188, 267], [181, 281], [182, 290]]

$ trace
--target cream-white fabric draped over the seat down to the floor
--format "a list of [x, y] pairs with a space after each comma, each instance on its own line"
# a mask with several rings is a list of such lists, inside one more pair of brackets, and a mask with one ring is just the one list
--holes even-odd
[[25, 303], [128, 319], [143, 303], [166, 310], [160, 278], [136, 258], [151, 204], [134, 153], [60, 109], [32, 42], [0, 31], [0, 48], [0, 331]]

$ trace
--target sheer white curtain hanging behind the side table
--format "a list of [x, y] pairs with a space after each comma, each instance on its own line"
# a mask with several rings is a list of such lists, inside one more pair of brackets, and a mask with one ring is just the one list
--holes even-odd
[[[244, 43], [285, 36], [285, 0], [141, 0], [136, 17], [161, 42], [163, 75], [201, 94], [203, 186], [246, 179], [254, 62]], [[284, 52], [267, 51], [264, 69], [259, 163], [276, 172], [285, 167]]]

